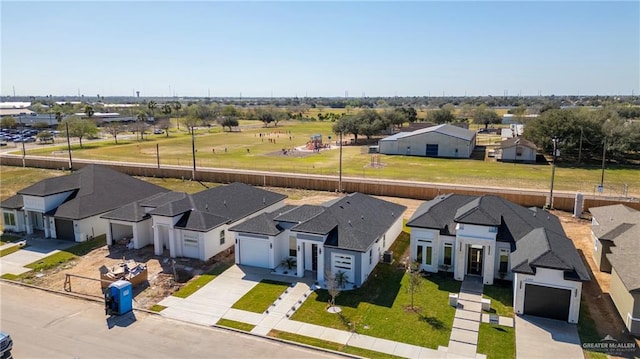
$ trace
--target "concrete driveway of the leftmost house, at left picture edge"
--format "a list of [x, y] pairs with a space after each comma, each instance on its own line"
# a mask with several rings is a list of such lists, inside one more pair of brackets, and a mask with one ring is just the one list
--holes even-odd
[[[0, 275], [6, 273], [15, 275], [26, 273], [31, 269], [25, 268], [25, 265], [67, 249], [74, 244], [76, 243], [56, 239], [29, 238], [27, 239], [26, 247], [0, 258]], [[3, 246], [3, 248], [5, 246]]]

